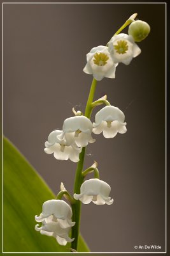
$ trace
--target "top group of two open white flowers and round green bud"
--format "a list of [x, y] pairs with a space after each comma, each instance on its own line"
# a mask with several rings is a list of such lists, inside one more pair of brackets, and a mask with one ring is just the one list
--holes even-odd
[[[132, 17], [132, 18], [131, 18]], [[90, 50], [87, 54], [87, 64], [83, 68], [86, 74], [92, 74], [100, 81], [104, 77], [115, 78], [115, 71], [118, 63], [125, 65], [131, 63], [132, 58], [141, 53], [141, 49], [135, 42], [141, 42], [150, 33], [150, 26], [142, 20], [134, 20], [129, 26], [127, 34], [114, 35], [107, 46], [99, 45]]]

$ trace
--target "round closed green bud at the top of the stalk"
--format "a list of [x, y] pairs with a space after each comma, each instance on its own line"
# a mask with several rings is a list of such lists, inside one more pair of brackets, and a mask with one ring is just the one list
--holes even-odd
[[129, 25], [128, 34], [134, 38], [135, 42], [141, 42], [150, 33], [150, 26], [142, 20], [135, 20]]

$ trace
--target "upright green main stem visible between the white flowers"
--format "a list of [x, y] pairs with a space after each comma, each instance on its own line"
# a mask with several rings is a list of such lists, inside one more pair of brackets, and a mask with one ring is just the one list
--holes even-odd
[[[94, 99], [94, 93], [96, 90], [96, 84], [97, 81], [96, 79], [93, 79], [92, 85], [90, 88], [89, 92], [89, 98], [87, 100], [86, 108], [85, 108], [85, 116], [87, 118], [90, 118], [91, 113], [92, 113], [92, 102]], [[83, 175], [82, 175], [82, 170], [83, 170], [83, 164], [84, 164], [84, 159], [85, 159], [85, 147], [82, 148], [82, 151], [79, 155], [79, 161], [78, 165], [76, 168], [76, 177], [74, 180], [74, 193], [80, 194], [80, 187], [81, 184], [83, 183]], [[71, 205], [72, 206], [72, 211], [73, 211], [73, 218], [72, 220], [75, 221], [75, 225], [71, 229], [71, 237], [74, 237], [74, 241], [71, 243], [71, 248], [77, 251], [78, 248], [78, 237], [79, 237], [79, 230], [80, 230], [80, 215], [81, 215], [81, 202], [80, 200], [76, 200], [75, 204]]]

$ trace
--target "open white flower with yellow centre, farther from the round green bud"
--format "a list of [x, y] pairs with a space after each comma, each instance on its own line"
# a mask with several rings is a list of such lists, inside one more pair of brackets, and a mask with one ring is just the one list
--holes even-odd
[[92, 74], [97, 81], [103, 77], [115, 78], [115, 71], [118, 64], [115, 64], [107, 46], [97, 46], [87, 54], [87, 65], [83, 71]]

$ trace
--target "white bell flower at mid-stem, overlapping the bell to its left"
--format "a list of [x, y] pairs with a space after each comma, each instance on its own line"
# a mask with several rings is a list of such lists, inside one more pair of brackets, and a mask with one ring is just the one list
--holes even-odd
[[85, 116], [73, 116], [64, 120], [62, 134], [57, 139], [62, 143], [66, 140], [70, 145], [75, 143], [77, 147], [86, 147], [88, 143], [93, 143], [93, 125], [89, 118]]

